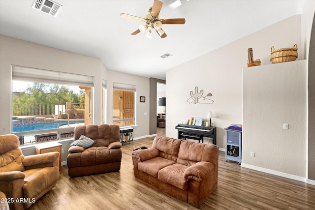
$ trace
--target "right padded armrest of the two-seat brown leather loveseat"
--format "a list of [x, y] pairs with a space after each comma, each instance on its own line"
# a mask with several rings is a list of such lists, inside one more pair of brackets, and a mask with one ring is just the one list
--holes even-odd
[[189, 166], [185, 172], [184, 172], [184, 179], [189, 180], [196, 180], [196, 181], [202, 181], [206, 177], [208, 177], [211, 174], [211, 171], [213, 171], [215, 168], [215, 165], [210, 162], [206, 161], [200, 161], [197, 162], [191, 166]]

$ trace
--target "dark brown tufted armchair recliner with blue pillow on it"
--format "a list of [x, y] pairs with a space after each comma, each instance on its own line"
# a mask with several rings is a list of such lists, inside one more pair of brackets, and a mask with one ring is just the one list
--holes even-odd
[[71, 146], [67, 156], [68, 175], [86, 176], [119, 171], [122, 160], [119, 125], [79, 125], [74, 128], [73, 140], [81, 135], [93, 139], [87, 149]]

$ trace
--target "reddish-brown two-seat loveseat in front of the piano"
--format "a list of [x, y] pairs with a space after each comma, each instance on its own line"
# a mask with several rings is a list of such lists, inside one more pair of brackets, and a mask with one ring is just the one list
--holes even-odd
[[132, 158], [136, 178], [197, 208], [218, 185], [216, 145], [157, 136]]

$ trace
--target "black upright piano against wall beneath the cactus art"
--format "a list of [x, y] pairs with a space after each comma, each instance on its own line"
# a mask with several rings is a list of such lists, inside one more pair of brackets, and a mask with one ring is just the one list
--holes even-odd
[[195, 139], [200, 142], [203, 137], [212, 138], [212, 143], [217, 144], [217, 127], [206, 127], [199, 125], [178, 124], [175, 126], [178, 130], [178, 139]]

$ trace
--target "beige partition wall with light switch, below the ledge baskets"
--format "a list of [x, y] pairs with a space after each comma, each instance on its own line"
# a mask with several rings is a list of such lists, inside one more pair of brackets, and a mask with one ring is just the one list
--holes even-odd
[[244, 68], [242, 164], [306, 178], [306, 72], [306, 60]]

